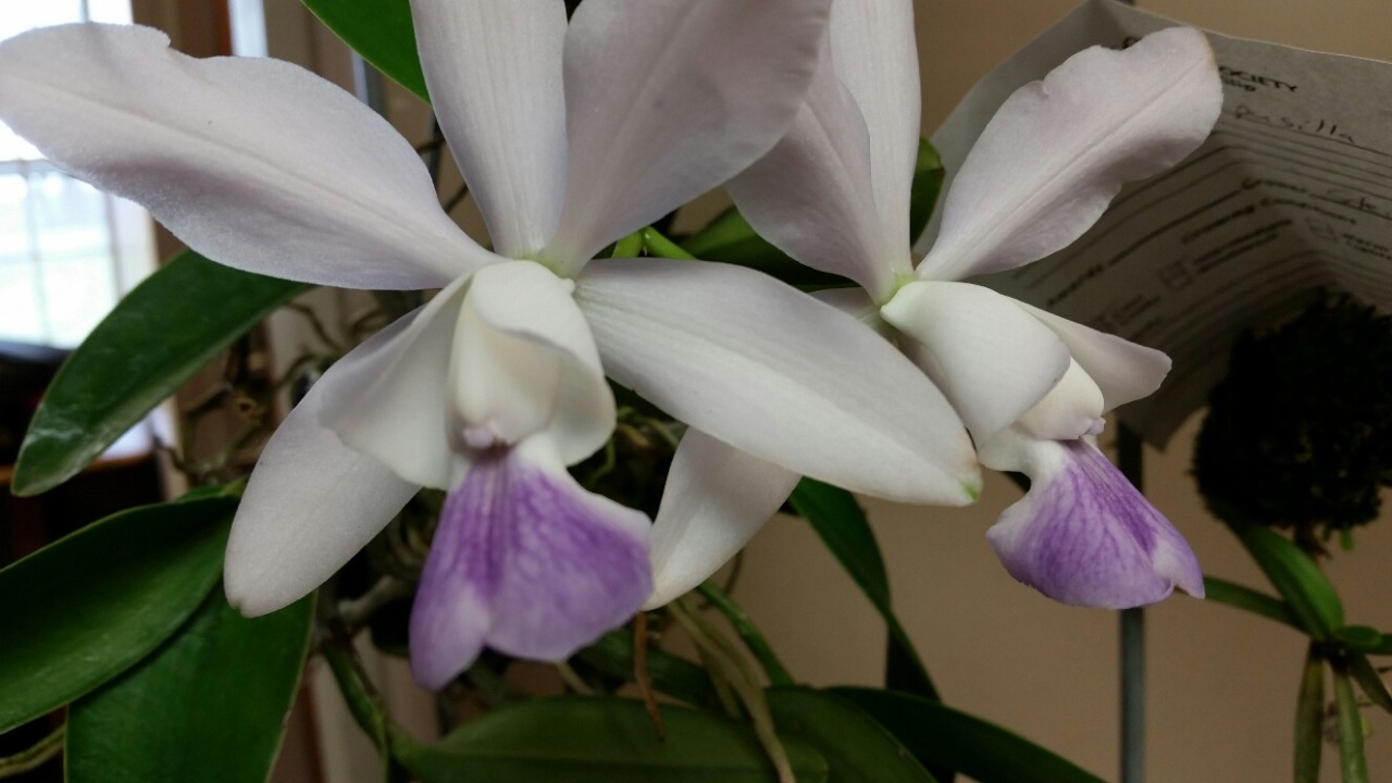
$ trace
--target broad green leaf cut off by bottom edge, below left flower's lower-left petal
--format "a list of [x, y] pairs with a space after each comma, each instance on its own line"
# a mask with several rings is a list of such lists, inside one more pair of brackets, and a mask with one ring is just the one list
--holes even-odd
[[315, 600], [248, 620], [214, 591], [155, 655], [68, 709], [70, 783], [262, 783], [280, 752]]

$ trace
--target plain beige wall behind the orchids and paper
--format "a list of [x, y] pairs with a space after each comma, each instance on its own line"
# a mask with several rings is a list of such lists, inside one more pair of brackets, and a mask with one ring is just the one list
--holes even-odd
[[[1072, 0], [917, 0], [924, 131], [990, 67]], [[1141, 0], [1140, 7], [1229, 35], [1392, 60], [1385, 0]], [[1205, 571], [1263, 585], [1204, 510], [1187, 475], [1197, 417], [1168, 453], [1147, 451], [1155, 504], [1189, 538]], [[1118, 770], [1116, 620], [1051, 603], [1015, 584], [983, 534], [1019, 496], [992, 476], [981, 504], [924, 510], [870, 504], [895, 600], [945, 698], [1015, 729], [1114, 780]], [[1329, 571], [1350, 621], [1392, 628], [1386, 600], [1392, 524], [1360, 535]], [[877, 683], [883, 630], [798, 520], [771, 522], [748, 550], [738, 598], [785, 662], [813, 683]], [[814, 599], [812, 596], [816, 596]], [[1295, 692], [1304, 645], [1272, 623], [1179, 596], [1148, 612], [1148, 780], [1290, 779]], [[1392, 719], [1371, 713], [1374, 780], [1392, 779]], [[1336, 751], [1324, 780], [1338, 780]]]

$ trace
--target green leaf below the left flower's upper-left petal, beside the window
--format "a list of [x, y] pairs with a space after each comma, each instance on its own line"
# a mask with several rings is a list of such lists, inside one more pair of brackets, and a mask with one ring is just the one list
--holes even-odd
[[306, 290], [185, 251], [150, 274], [63, 364], [29, 425], [14, 493], [72, 478], [237, 337]]

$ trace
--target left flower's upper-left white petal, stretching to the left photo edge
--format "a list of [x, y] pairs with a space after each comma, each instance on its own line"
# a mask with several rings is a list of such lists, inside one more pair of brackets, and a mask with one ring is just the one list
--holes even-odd
[[64, 25], [0, 43], [0, 120], [72, 176], [251, 272], [444, 286], [489, 254], [370, 109], [278, 60], [173, 52], [155, 29]]

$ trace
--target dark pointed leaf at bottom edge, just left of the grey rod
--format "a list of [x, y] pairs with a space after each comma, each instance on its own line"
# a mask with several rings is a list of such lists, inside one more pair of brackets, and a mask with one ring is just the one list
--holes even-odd
[[874, 688], [832, 688], [889, 730], [920, 762], [979, 783], [1102, 783], [1096, 775], [942, 702]]

